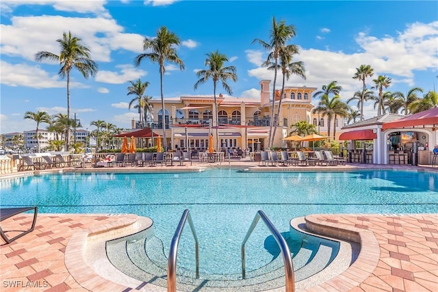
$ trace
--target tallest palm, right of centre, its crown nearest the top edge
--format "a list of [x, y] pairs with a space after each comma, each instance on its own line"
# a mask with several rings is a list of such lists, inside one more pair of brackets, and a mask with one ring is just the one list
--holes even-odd
[[275, 108], [275, 86], [276, 86], [276, 72], [279, 64], [280, 51], [287, 45], [286, 43], [296, 36], [295, 26], [286, 25], [285, 21], [280, 21], [277, 23], [275, 18], [272, 17], [272, 27], [270, 29], [270, 38], [268, 42], [255, 38], [254, 42], [261, 44], [263, 49], [269, 51], [268, 59], [262, 65], [266, 66], [268, 64], [274, 63], [274, 83], [272, 83], [272, 114], [271, 122], [269, 127], [269, 137], [268, 137], [268, 147], [272, 148], [272, 125], [274, 122], [274, 108]]

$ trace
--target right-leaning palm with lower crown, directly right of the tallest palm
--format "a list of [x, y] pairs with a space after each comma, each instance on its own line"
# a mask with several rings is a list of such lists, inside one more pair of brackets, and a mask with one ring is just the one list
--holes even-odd
[[[292, 62], [292, 59], [294, 58], [294, 55], [299, 54], [300, 49], [296, 44], [289, 44], [286, 47], [283, 47], [279, 52], [279, 70], [281, 70], [281, 73], [283, 75], [283, 82], [281, 83], [281, 92], [280, 92], [280, 100], [279, 100], [279, 107], [277, 108], [276, 112], [276, 119], [278, 120], [280, 116], [280, 110], [281, 110], [281, 101], [283, 100], [283, 94], [285, 92], [285, 80], [289, 80], [291, 75], [298, 75], [302, 79], [306, 79], [305, 74], [305, 66], [303, 62]], [[275, 64], [270, 64], [268, 67], [268, 70], [274, 70]], [[272, 131], [272, 144], [274, 143], [274, 137], [276, 133], [276, 127], [278, 126], [278, 121], [274, 123], [274, 131]]]

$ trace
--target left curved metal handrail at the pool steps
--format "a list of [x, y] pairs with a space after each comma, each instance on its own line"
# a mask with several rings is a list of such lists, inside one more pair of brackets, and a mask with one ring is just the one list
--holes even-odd
[[176, 292], [177, 291], [177, 253], [178, 253], [178, 242], [179, 237], [181, 237], [181, 233], [183, 232], [185, 222], [189, 222], [190, 229], [192, 230], [192, 235], [195, 241], [195, 261], [196, 261], [196, 279], [199, 278], [199, 244], [198, 237], [196, 236], [196, 232], [194, 230], [192, 216], [188, 209], [185, 209], [183, 215], [181, 216], [181, 220], [179, 220], [179, 224], [177, 226], [177, 230], [175, 230], [175, 235], [173, 235], [172, 242], [170, 243], [169, 250], [169, 259], [167, 264], [167, 291], [168, 292]]

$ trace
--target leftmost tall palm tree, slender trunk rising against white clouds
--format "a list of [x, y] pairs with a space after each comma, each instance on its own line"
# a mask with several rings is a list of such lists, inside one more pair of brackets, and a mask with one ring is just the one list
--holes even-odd
[[[70, 71], [76, 68], [81, 72], [85, 79], [94, 77], [97, 73], [97, 64], [90, 57], [90, 49], [82, 43], [80, 38], [64, 32], [62, 38], [56, 40], [61, 47], [59, 55], [47, 51], [39, 51], [35, 54], [36, 62], [42, 62], [49, 59], [58, 62], [61, 66], [58, 75], [61, 78], [67, 78], [67, 118], [70, 120]], [[67, 130], [65, 149], [68, 150], [70, 144], [70, 129]]]

